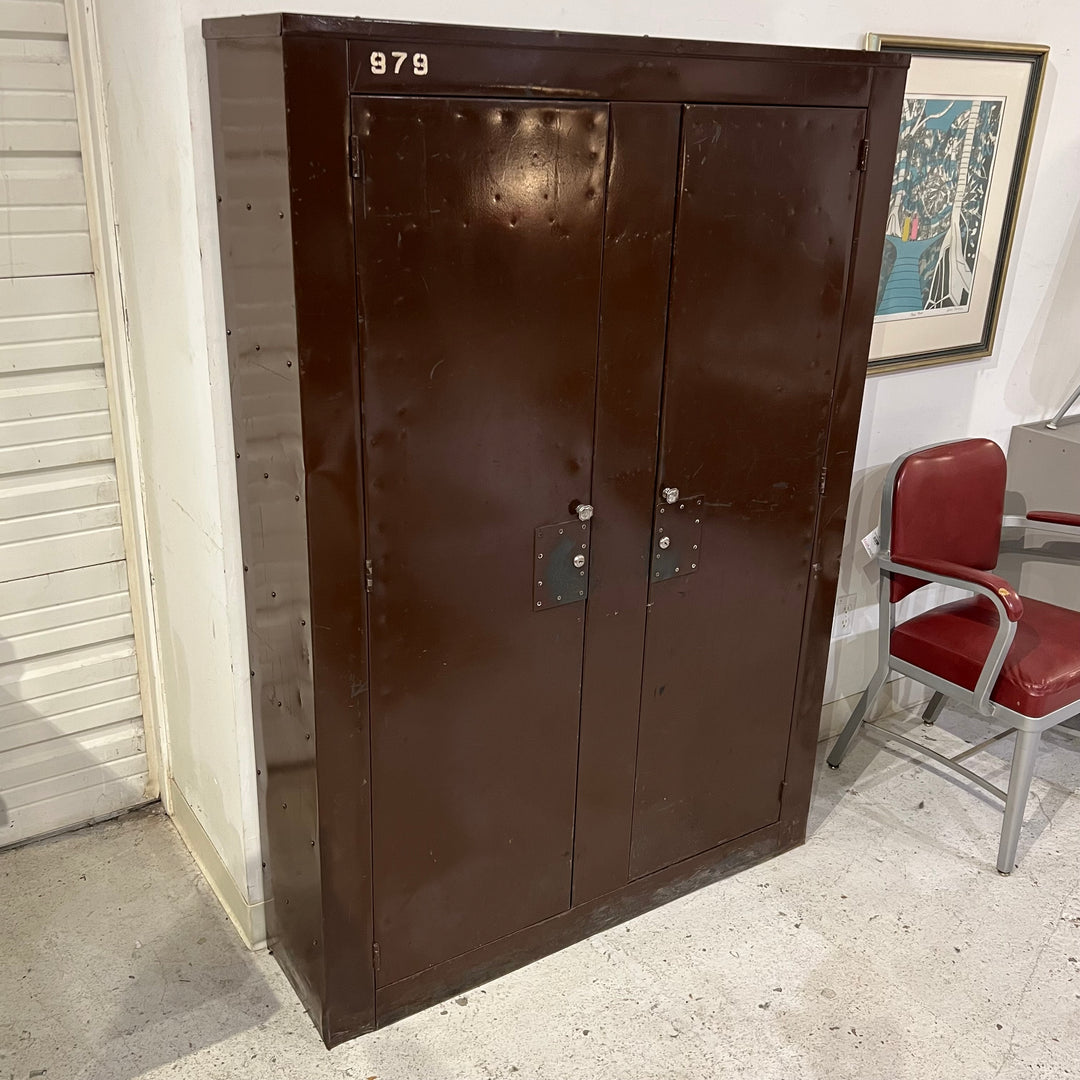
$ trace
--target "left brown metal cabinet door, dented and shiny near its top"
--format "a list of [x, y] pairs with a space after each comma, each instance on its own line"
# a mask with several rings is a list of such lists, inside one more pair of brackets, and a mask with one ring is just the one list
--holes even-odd
[[608, 106], [352, 124], [387, 985], [569, 906]]

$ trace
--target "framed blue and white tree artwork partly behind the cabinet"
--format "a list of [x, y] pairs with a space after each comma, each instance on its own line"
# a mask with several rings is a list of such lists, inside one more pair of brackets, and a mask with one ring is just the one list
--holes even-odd
[[912, 54], [869, 370], [994, 348], [1045, 45], [868, 33]]

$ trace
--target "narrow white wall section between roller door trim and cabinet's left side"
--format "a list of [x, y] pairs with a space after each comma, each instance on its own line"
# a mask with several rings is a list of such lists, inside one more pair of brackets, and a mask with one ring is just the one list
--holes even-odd
[[[172, 810], [248, 939], [264, 936], [228, 381], [207, 334], [177, 4], [97, 0], [124, 307], [143, 451]], [[200, 163], [203, 168], [203, 163]], [[208, 168], [208, 166], [205, 166]], [[216, 253], [216, 240], [214, 251]]]

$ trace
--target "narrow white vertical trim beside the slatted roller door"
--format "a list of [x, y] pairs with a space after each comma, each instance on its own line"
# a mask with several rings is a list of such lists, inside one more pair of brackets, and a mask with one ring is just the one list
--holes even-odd
[[132, 356], [127, 339], [123, 280], [108, 156], [102, 57], [94, 0], [64, 0], [67, 14], [71, 71], [86, 186], [90, 243], [94, 258], [102, 351], [108, 383], [109, 416], [117, 463], [120, 515], [127, 562], [135, 652], [138, 661], [146, 756], [149, 769], [147, 796], [160, 797], [172, 813], [168, 734], [160, 677], [160, 637], [154, 610], [150, 552], [147, 542], [146, 501], [135, 417]]

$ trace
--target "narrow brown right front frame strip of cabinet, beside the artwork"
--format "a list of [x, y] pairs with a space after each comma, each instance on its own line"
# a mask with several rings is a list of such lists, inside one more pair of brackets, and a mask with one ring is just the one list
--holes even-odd
[[853, 258], [849, 271], [825, 453], [825, 491], [818, 507], [814, 527], [813, 562], [804, 616], [795, 713], [780, 811], [782, 842], [785, 847], [801, 841], [806, 836], [810, 809], [833, 605], [836, 602], [840, 553], [843, 549], [848, 495], [854, 465], [855, 440], [859, 436], [870, 330], [874, 328], [881, 244], [892, 188], [906, 76], [906, 68], [876, 70], [866, 113], [866, 173], [855, 213]]

